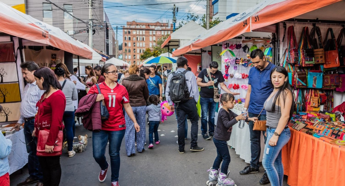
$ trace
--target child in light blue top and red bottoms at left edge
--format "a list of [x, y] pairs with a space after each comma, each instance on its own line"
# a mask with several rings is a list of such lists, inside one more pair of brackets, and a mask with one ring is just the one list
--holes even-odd
[[[0, 105], [2, 109], [2, 106]], [[8, 164], [7, 156], [10, 155], [12, 148], [12, 142], [6, 139], [5, 136], [0, 133], [0, 185], [10, 186], [10, 165]]]

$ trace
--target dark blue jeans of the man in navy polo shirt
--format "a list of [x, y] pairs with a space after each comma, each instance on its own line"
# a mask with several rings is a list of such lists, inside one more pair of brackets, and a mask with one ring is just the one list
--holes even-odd
[[[257, 117], [259, 114], [248, 113], [248, 117]], [[261, 114], [259, 120], [266, 120], [266, 115]], [[252, 153], [252, 161], [250, 161], [250, 166], [255, 169], [260, 167], [259, 158], [261, 154], [261, 131], [254, 131], [254, 122], [249, 122], [249, 133], [250, 133], [250, 153]], [[265, 138], [265, 131], [262, 132]]]

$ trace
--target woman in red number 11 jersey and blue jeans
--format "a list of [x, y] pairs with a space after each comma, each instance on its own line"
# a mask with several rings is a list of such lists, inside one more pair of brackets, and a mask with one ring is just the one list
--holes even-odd
[[92, 149], [93, 158], [101, 167], [98, 180], [104, 182], [109, 167], [105, 156], [106, 146], [109, 141], [112, 186], [119, 185], [120, 146], [126, 131], [126, 121], [122, 107], [125, 108], [128, 116], [134, 122], [136, 131], [140, 131], [132, 107], [129, 105], [128, 92], [123, 85], [116, 82], [118, 73], [119, 71], [115, 65], [111, 63], [105, 64], [101, 71], [105, 81], [98, 84], [101, 91], [100, 94], [98, 94], [96, 85], [93, 85], [88, 92], [88, 94], [98, 94], [96, 102], [104, 100], [109, 112], [108, 120], [102, 121], [102, 130], [100, 132], [92, 132]]

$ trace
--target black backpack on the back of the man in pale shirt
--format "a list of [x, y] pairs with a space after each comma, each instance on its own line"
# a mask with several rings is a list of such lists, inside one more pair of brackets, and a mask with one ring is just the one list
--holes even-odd
[[183, 103], [189, 99], [189, 90], [186, 82], [185, 74], [188, 70], [181, 73], [172, 73], [172, 77], [169, 85], [169, 96], [174, 103]]

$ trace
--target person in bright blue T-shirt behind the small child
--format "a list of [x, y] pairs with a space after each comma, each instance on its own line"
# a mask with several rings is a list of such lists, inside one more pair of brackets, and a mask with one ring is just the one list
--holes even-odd
[[149, 79], [146, 80], [147, 87], [149, 89], [149, 95], [157, 95], [159, 100], [162, 100], [162, 79], [156, 75], [155, 66], [151, 65], [149, 67], [151, 74]]

